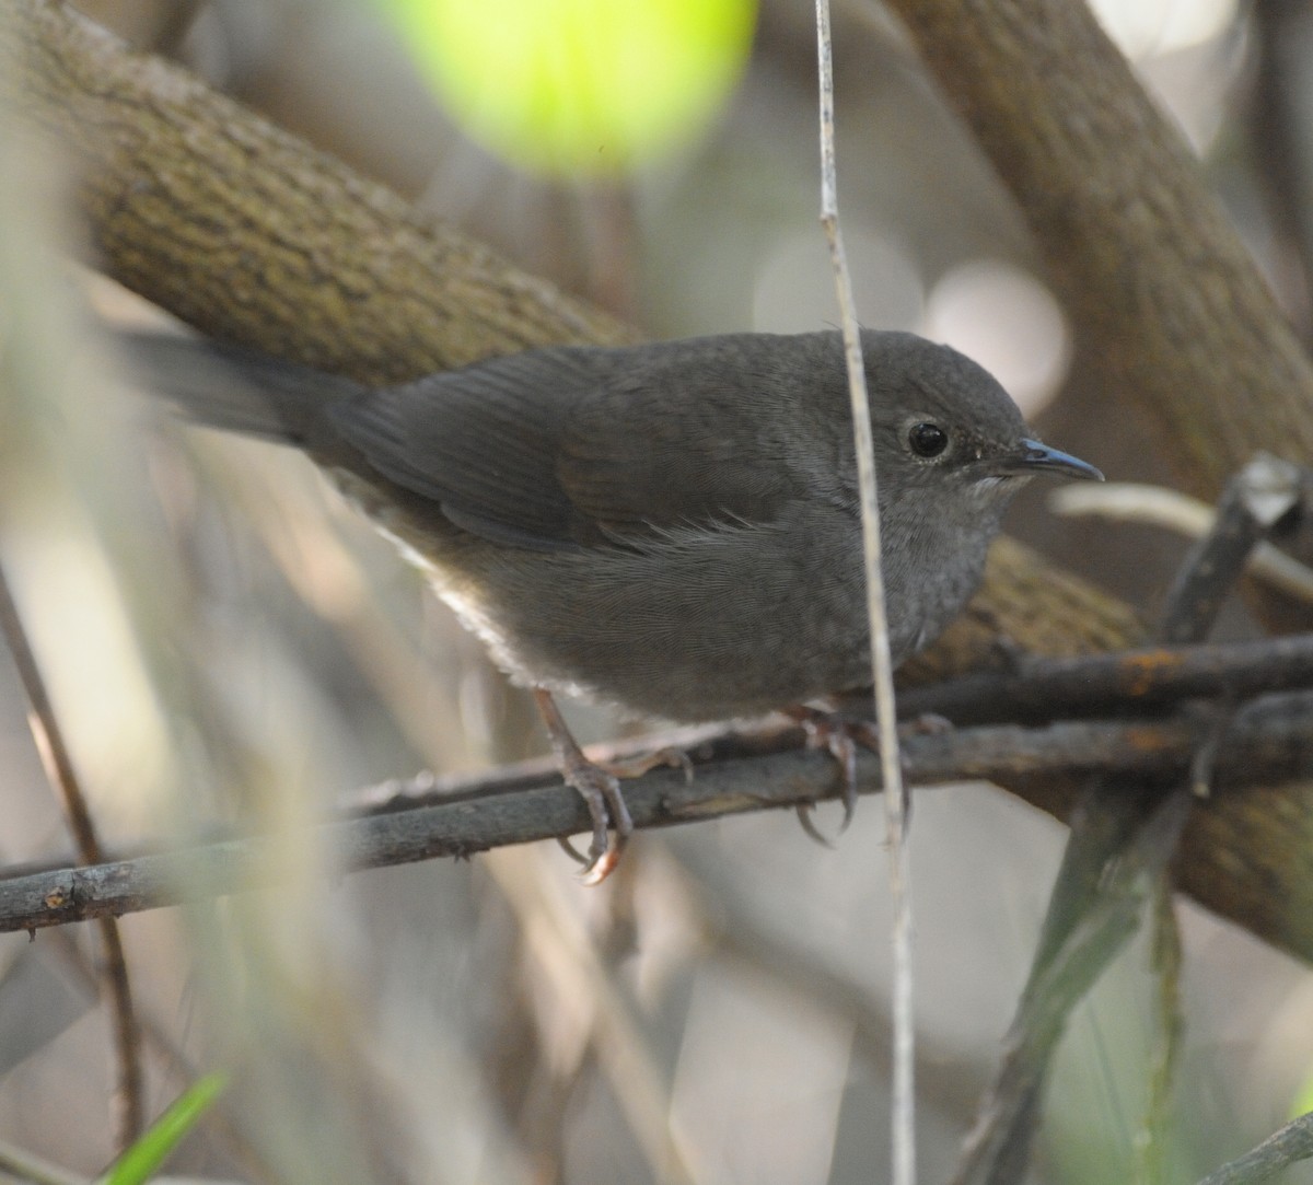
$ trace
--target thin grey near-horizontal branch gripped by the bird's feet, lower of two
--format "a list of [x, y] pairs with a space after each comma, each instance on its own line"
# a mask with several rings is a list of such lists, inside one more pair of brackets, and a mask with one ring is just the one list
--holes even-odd
[[[1188, 779], [1204, 736], [1190, 717], [1159, 721], [1071, 723], [1040, 729], [957, 729], [910, 737], [907, 775], [922, 786], [1012, 778], [1116, 779], [1123, 786], [1161, 787]], [[679, 738], [663, 738], [675, 740]], [[730, 737], [760, 755], [697, 765], [685, 782], [679, 771], [654, 770], [625, 787], [638, 828], [696, 822], [721, 815], [794, 808], [835, 794], [829, 762], [804, 748], [800, 730], [769, 737]], [[647, 738], [646, 744], [651, 744]], [[1239, 786], [1263, 784], [1313, 765], [1313, 695], [1266, 696], [1237, 715], [1226, 751], [1218, 755], [1218, 797]], [[878, 786], [877, 759], [859, 750], [859, 786]], [[431, 786], [431, 783], [425, 783]], [[323, 843], [345, 871], [462, 857], [488, 847], [550, 839], [587, 830], [587, 809], [546, 763], [446, 783], [418, 805], [402, 799], [373, 813], [334, 818]], [[269, 885], [278, 842], [231, 838], [204, 846], [114, 861], [93, 868], [58, 868], [0, 880], [0, 933], [63, 925], [92, 917], [158, 909]]]

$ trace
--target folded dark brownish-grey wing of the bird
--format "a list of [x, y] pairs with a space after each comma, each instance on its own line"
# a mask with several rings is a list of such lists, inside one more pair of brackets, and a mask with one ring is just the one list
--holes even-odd
[[638, 545], [768, 520], [800, 493], [714, 367], [675, 374], [656, 351], [635, 357], [621, 369], [611, 351], [509, 355], [330, 416], [383, 477], [515, 547]]

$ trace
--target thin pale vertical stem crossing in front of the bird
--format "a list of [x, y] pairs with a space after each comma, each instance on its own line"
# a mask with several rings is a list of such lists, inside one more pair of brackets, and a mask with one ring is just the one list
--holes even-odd
[[857, 483], [861, 495], [861, 544], [867, 561], [867, 617], [871, 623], [872, 682], [876, 688], [876, 724], [885, 795], [885, 830], [889, 842], [889, 891], [893, 899], [893, 1185], [916, 1180], [915, 1138], [915, 1014], [913, 991], [911, 855], [907, 845], [907, 811], [898, 745], [893, 660], [889, 653], [889, 619], [885, 612], [885, 582], [881, 570], [880, 510], [876, 485], [876, 453], [867, 398], [867, 373], [861, 363], [861, 332], [852, 297], [852, 277], [839, 227], [839, 194], [834, 145], [834, 55], [830, 38], [830, 0], [817, 0], [817, 54], [821, 76], [821, 225], [830, 242], [835, 290], [839, 297], [844, 355], [848, 364], [848, 394], [857, 452]]

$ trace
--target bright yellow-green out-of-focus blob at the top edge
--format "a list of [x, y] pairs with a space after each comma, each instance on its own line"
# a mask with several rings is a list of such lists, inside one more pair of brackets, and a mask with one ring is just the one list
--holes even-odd
[[622, 173], [688, 143], [747, 62], [754, 0], [381, 0], [460, 125], [517, 164]]

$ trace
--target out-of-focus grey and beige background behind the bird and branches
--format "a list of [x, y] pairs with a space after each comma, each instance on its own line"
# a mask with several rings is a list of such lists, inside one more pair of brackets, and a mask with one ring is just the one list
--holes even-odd
[[[680, 83], [678, 109], [641, 112], [632, 141], [616, 133], [624, 152], [600, 164], [571, 156], [567, 134], [557, 155], [521, 151], [509, 117], [490, 114], [474, 83], [453, 80], [450, 55], [425, 47], [418, 3], [77, 7], [653, 338], [836, 322], [817, 222], [809, 4], [725, 4], [705, 60], [663, 66]], [[509, 41], [530, 7], [473, 11], [484, 34]], [[1313, 4], [1098, 0], [1096, 11], [1306, 335]], [[456, 41], [473, 35], [457, 25], [445, 32], [470, 66], [478, 50]], [[1154, 439], [1116, 393], [1082, 381], [1024, 226], [898, 28], [874, 4], [843, 0], [835, 39], [839, 201], [863, 322], [947, 340], [990, 368], [1045, 439], [1109, 477], [1162, 480]], [[643, 93], [656, 87], [639, 80]], [[152, 311], [71, 263], [80, 235], [58, 156], [12, 126], [0, 135], [17, 166], [0, 176], [3, 558], [102, 837], [126, 850], [259, 825], [282, 837], [289, 874], [277, 892], [122, 922], [151, 1114], [200, 1071], [232, 1079], [171, 1172], [881, 1180], [878, 803], [863, 803], [834, 850], [784, 813], [647, 833], [592, 891], [548, 845], [335, 876], [334, 853], [306, 826], [314, 812], [421, 769], [541, 753], [545, 737], [479, 645], [307, 462], [186, 432], [133, 399], [93, 323]], [[1150, 617], [1184, 548], [1149, 527], [1057, 519], [1041, 497], [1010, 528]], [[1249, 628], [1236, 611], [1222, 632]], [[625, 727], [567, 708], [584, 738]], [[0, 767], [0, 861], [70, 857], [8, 657]], [[822, 828], [836, 822], [838, 808], [819, 812]], [[987, 786], [916, 795], [926, 1181], [956, 1161], [1064, 836]], [[1180, 914], [1174, 1182], [1313, 1106], [1308, 968], [1190, 903]], [[88, 926], [0, 937], [0, 1143], [74, 1180], [112, 1155], [98, 959]], [[1078, 1012], [1033, 1181], [1132, 1180], [1153, 992], [1141, 943]]]

